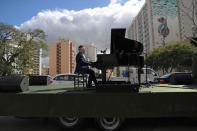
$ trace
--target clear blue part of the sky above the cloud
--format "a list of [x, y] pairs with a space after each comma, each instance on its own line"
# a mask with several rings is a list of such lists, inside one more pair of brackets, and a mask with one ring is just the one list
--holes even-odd
[[0, 22], [20, 25], [42, 10], [103, 7], [109, 0], [1, 0]]

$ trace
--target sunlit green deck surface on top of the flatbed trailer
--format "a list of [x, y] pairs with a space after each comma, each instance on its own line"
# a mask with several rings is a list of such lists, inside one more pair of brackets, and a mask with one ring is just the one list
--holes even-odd
[[[57, 86], [57, 85], [49, 85], [49, 86], [30, 86], [30, 90], [27, 92], [23, 92], [22, 94], [56, 94], [56, 93], [66, 93], [66, 92], [95, 92], [94, 90], [86, 90], [85, 88], [79, 87], [74, 88], [71, 86]], [[170, 93], [170, 92], [197, 92], [197, 85], [152, 85], [148, 88], [144, 86], [144, 88], [140, 89], [139, 93]]]

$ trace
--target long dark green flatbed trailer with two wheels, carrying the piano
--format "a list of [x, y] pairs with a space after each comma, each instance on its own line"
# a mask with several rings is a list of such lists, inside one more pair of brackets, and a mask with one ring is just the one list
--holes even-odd
[[197, 117], [197, 86], [155, 85], [135, 92], [32, 86], [22, 93], [0, 93], [0, 115], [57, 118], [76, 128], [94, 118], [101, 129], [117, 130], [126, 118]]

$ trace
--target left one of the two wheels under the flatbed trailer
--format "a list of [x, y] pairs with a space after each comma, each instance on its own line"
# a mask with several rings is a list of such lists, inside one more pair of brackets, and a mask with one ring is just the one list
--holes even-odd
[[81, 119], [77, 117], [59, 117], [58, 120], [61, 127], [66, 129], [76, 129], [81, 123]]

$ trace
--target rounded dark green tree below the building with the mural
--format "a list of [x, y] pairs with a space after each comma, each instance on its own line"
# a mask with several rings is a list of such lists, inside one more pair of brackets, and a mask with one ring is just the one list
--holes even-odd
[[189, 43], [168, 43], [165, 47], [154, 49], [146, 58], [146, 63], [163, 73], [191, 70], [194, 51], [195, 47]]

